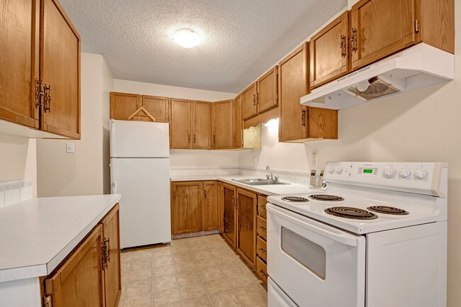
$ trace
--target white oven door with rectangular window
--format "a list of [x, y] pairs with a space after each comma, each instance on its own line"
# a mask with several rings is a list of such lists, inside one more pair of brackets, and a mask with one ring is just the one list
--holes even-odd
[[268, 274], [284, 293], [301, 307], [364, 307], [365, 237], [266, 208]]

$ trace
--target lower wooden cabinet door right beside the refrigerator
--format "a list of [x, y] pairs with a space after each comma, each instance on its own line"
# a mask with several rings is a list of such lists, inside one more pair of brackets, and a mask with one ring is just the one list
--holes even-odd
[[173, 235], [201, 231], [201, 182], [172, 184]]

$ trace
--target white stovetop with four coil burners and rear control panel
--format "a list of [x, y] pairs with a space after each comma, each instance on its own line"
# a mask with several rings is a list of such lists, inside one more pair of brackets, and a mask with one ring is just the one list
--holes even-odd
[[[383, 165], [386, 165], [384, 163], [367, 164], [370, 165], [367, 167], [373, 169], [374, 174], [364, 177], [355, 175], [356, 169], [358, 169], [357, 172], [363, 172], [363, 162], [341, 163], [347, 163], [352, 167], [345, 174], [338, 175], [336, 172], [328, 172], [326, 190], [310, 194], [269, 196], [267, 201], [303, 216], [357, 234], [446, 220], [447, 200], [443, 195], [443, 192], [446, 194], [446, 189], [440, 183], [445, 182], [445, 178], [434, 178], [438, 175], [440, 177], [446, 176], [446, 174], [442, 174], [441, 169], [437, 169], [443, 164], [425, 165], [425, 169], [428, 169], [426, 181], [420, 179], [413, 182], [409, 182], [409, 179], [399, 181], [399, 177], [395, 176], [394, 181], [388, 183], [384, 181], [384, 172], [381, 171]], [[433, 166], [432, 169], [431, 166]], [[327, 164], [327, 171], [328, 167], [331, 167], [331, 162]], [[437, 182], [440, 186], [434, 188]], [[418, 193], [409, 192], [409, 187]], [[438, 191], [437, 193], [443, 197], [433, 195], [435, 194], [434, 191]], [[298, 201], [282, 199], [287, 196], [295, 197]], [[339, 196], [339, 198], [333, 196]], [[300, 201], [300, 198], [304, 198], [306, 201]], [[382, 211], [399, 214], [387, 214]], [[350, 215], [356, 214], [360, 219], [342, 217], [340, 214], [343, 212]]]

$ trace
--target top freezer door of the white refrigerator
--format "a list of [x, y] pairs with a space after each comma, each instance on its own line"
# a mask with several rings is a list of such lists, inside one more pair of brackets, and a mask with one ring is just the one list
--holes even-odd
[[170, 157], [169, 126], [111, 120], [111, 157]]

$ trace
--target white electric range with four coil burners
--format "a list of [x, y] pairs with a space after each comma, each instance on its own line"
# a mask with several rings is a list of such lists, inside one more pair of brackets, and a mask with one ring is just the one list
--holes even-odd
[[328, 162], [267, 201], [269, 306], [446, 306], [448, 165]]

